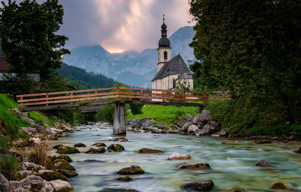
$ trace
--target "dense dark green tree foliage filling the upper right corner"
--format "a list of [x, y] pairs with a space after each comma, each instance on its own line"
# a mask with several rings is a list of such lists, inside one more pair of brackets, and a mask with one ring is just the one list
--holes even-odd
[[[299, 0], [190, 0], [196, 25], [190, 43], [206, 70], [246, 102], [281, 102], [294, 123], [291, 103], [301, 97]], [[295, 108], [296, 109], [296, 108]]]

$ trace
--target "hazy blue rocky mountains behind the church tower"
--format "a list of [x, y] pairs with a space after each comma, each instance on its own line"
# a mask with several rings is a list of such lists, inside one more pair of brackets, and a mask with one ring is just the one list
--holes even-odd
[[[185, 26], [174, 32], [169, 40], [172, 57], [180, 53], [187, 65], [193, 63], [193, 49], [188, 46], [194, 37], [192, 27]], [[158, 37], [159, 41], [159, 37]], [[150, 80], [157, 74], [157, 48], [138, 53], [134, 50], [111, 54], [101, 45], [77, 47], [64, 57], [68, 65], [106, 75], [131, 86], [151, 87]], [[188, 63], [187, 60], [192, 60]]]

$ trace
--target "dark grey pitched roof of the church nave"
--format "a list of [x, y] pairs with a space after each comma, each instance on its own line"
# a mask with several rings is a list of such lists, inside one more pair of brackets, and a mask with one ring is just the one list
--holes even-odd
[[182, 57], [177, 55], [176, 57], [172, 58], [169, 62], [166, 62], [162, 69], [157, 73], [157, 75], [153, 78], [152, 81], [156, 79], [162, 79], [168, 75], [180, 74], [180, 78], [191, 79], [192, 73], [190, 72], [189, 68], [183, 61]]

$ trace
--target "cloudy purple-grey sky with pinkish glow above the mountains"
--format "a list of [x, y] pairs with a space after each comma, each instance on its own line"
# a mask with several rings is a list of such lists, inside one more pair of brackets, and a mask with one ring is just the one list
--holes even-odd
[[59, 34], [69, 38], [68, 49], [100, 44], [111, 53], [141, 52], [158, 46], [163, 14], [168, 36], [180, 27], [193, 25], [188, 23], [192, 19], [188, 0], [59, 0], [59, 3], [65, 11]]

